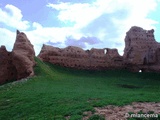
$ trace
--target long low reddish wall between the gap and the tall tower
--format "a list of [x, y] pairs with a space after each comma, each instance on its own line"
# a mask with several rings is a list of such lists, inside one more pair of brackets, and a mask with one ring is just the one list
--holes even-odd
[[113, 69], [121, 68], [123, 65], [123, 58], [117, 49], [109, 48], [84, 51], [74, 46], [60, 49], [43, 45], [38, 57], [46, 62], [77, 69]]

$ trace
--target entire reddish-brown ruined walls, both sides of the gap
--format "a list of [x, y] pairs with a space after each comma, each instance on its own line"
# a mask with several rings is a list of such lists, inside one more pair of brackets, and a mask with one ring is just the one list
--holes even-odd
[[[34, 56], [33, 45], [25, 33], [17, 31], [12, 52], [8, 52], [5, 46], [0, 47], [0, 84], [33, 76]], [[43, 45], [38, 57], [45, 62], [76, 69], [160, 72], [160, 43], [154, 38], [154, 30], [137, 26], [126, 33], [123, 56], [117, 49], [83, 50], [75, 46], [58, 48]]]

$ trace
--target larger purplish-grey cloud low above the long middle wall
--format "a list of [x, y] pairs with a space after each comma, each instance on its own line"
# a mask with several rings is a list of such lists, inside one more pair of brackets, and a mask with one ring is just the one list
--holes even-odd
[[81, 37], [79, 40], [74, 39], [73, 37], [67, 37], [65, 44], [67, 46], [77, 46], [80, 48], [86, 48], [86, 45], [98, 44], [101, 41], [96, 37]]

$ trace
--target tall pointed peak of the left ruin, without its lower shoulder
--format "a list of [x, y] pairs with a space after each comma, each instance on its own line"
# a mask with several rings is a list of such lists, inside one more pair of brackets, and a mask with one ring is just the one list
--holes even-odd
[[33, 45], [26, 34], [17, 31], [16, 41], [12, 50], [13, 64], [17, 70], [17, 79], [34, 75], [34, 56]]

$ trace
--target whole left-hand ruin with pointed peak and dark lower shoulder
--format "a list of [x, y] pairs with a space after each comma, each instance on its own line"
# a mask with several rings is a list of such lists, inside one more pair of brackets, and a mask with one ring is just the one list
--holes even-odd
[[17, 31], [12, 52], [8, 52], [5, 46], [0, 47], [0, 84], [33, 76], [34, 56], [33, 45], [27, 36]]

